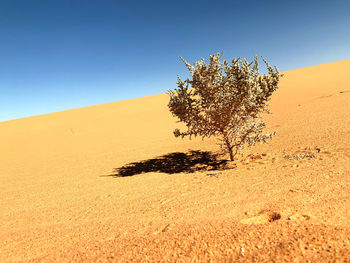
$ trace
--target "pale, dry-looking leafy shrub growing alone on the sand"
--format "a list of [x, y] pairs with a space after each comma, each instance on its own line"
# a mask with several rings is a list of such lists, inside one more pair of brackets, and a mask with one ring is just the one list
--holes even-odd
[[218, 137], [221, 149], [233, 161], [245, 146], [268, 143], [275, 135], [264, 131], [266, 124], [261, 114], [271, 113], [267, 102], [282, 75], [264, 58], [268, 72], [259, 75], [256, 56], [250, 63], [234, 58], [231, 65], [226, 60], [221, 62], [221, 57], [222, 53], [217, 53], [210, 56], [209, 64], [202, 59], [194, 66], [180, 57], [192, 79], [182, 81], [178, 77], [178, 88], [168, 91], [168, 107], [187, 127], [186, 131], [176, 129], [176, 137]]

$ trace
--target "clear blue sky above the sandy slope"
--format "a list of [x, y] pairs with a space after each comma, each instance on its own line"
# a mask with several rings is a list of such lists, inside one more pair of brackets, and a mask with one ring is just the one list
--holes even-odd
[[176, 88], [193, 63], [350, 58], [348, 0], [0, 0], [0, 121]]

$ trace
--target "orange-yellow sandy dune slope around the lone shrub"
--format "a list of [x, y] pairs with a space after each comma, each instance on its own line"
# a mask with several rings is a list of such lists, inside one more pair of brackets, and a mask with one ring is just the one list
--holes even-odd
[[349, 262], [349, 72], [284, 72], [272, 150], [217, 171], [166, 94], [0, 122], [0, 261]]

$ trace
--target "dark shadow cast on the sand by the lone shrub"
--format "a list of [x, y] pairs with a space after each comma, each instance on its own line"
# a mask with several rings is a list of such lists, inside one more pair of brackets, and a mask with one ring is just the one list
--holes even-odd
[[175, 174], [227, 169], [228, 161], [218, 160], [218, 156], [207, 151], [174, 152], [114, 168], [113, 173], [107, 176], [126, 177], [149, 172]]

